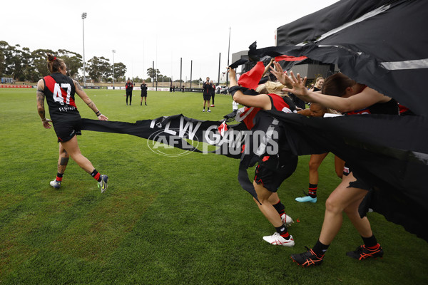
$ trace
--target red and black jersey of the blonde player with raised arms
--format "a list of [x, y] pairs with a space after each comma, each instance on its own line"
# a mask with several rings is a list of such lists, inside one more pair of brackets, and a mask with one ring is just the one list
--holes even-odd
[[[278, 111], [282, 111], [284, 113], [292, 113], [295, 110], [295, 105], [292, 103], [292, 100], [288, 97], [282, 98], [280, 95], [276, 94], [267, 94], [270, 98], [270, 102], [272, 103], [272, 109], [276, 109]], [[240, 118], [243, 118], [243, 122], [247, 126], [248, 130], [251, 130], [255, 125], [255, 115], [263, 110], [258, 107], [245, 108], [244, 112], [240, 114]]]

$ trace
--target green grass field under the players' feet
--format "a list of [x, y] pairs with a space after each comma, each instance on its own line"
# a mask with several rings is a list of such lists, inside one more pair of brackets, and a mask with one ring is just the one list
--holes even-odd
[[[149, 92], [126, 106], [121, 90], [88, 90], [110, 120], [133, 123], [183, 113], [220, 120], [231, 99], [215, 96], [202, 113], [200, 93]], [[83, 118], [96, 118], [82, 100]], [[307, 162], [282, 183], [279, 195], [295, 221], [295, 247], [267, 244], [275, 229], [238, 184], [238, 160], [191, 153], [157, 155], [131, 135], [84, 131], [83, 155], [109, 177], [101, 195], [93, 178], [70, 160], [60, 190], [58, 144], [37, 115], [34, 89], [0, 88], [0, 284], [426, 284], [427, 242], [387, 222], [369, 219], [384, 258], [345, 256], [362, 243], [349, 220], [322, 266], [304, 269], [290, 254], [312, 247], [325, 199], [340, 182], [332, 155], [320, 167], [316, 204], [295, 197], [307, 189]], [[46, 105], [47, 110], [47, 105]], [[250, 170], [253, 172], [253, 170]]]

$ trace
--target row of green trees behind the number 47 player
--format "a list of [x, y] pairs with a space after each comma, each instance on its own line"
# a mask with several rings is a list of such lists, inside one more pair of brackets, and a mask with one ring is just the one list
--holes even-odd
[[[21, 48], [19, 44], [9, 45], [6, 41], [0, 41], [0, 77], [11, 77], [16, 81], [37, 82], [40, 78], [49, 75], [46, 64], [46, 54], [51, 53], [63, 59], [67, 65], [68, 75], [76, 80], [82, 80], [83, 76], [78, 73], [83, 71], [83, 59], [79, 53], [58, 49], [36, 49], [30, 51], [29, 48]], [[85, 70], [87, 77], [95, 82], [113, 81], [113, 65], [108, 58], [103, 56], [88, 60]], [[126, 65], [119, 62], [114, 63], [114, 77], [118, 82], [125, 81]]]

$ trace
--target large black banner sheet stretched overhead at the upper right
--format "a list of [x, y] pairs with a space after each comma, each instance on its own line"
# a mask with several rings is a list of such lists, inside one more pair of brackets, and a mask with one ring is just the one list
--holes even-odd
[[307, 56], [428, 116], [428, 1], [341, 0], [277, 28], [277, 46], [249, 58]]

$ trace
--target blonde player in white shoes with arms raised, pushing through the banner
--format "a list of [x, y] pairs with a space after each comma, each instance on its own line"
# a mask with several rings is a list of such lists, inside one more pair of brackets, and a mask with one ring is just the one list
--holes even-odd
[[[229, 68], [229, 77], [230, 86], [238, 86], [235, 71], [232, 68]], [[242, 113], [238, 111], [240, 115], [237, 115], [237, 120], [242, 120], [248, 130], [251, 130], [255, 125], [255, 115], [260, 110], [276, 109], [285, 113], [292, 113], [295, 110], [295, 106], [286, 93], [282, 93], [281, 89], [284, 87], [280, 83], [267, 82], [258, 86], [256, 91], [259, 95], [245, 95], [240, 90], [235, 91], [233, 100], [241, 105], [248, 106]], [[281, 96], [278, 94], [281, 94]], [[262, 161], [259, 162], [255, 169], [253, 186], [259, 200], [259, 202], [255, 200], [256, 204], [276, 229], [275, 234], [265, 236], [263, 239], [270, 244], [293, 247], [295, 244], [294, 239], [287, 230], [287, 225], [293, 221], [290, 216], [285, 214], [285, 206], [281, 203], [277, 190], [281, 183], [295, 172], [297, 156], [292, 155], [287, 150], [282, 150], [281, 146], [285, 144], [280, 143], [281, 141], [280, 134], [278, 138], [280, 150], [276, 155], [265, 155]]]

